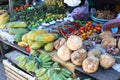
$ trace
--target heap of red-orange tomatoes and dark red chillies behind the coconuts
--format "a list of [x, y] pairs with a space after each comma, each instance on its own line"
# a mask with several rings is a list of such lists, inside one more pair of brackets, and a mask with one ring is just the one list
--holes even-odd
[[88, 21], [84, 26], [81, 26], [81, 24], [77, 22], [71, 22], [65, 25], [63, 28], [59, 28], [58, 30], [65, 38], [69, 37], [70, 35], [78, 35], [83, 39], [87, 39], [93, 33], [100, 33], [101, 25], [96, 24], [94, 26], [91, 21]]

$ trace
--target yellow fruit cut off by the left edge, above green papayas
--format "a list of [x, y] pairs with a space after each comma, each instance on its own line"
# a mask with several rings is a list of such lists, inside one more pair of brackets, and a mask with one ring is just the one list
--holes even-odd
[[5, 10], [0, 10], [0, 28], [5, 28], [9, 20], [9, 14]]

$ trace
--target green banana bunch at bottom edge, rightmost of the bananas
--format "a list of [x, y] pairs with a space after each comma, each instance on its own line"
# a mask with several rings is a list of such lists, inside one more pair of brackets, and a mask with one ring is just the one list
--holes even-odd
[[66, 68], [60, 68], [58, 63], [54, 63], [47, 71], [50, 80], [67, 80], [71, 78], [71, 72]]

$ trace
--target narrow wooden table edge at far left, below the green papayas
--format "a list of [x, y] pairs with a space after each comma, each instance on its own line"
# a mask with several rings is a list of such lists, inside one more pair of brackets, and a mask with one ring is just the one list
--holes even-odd
[[8, 41], [2, 40], [1, 38], [0, 38], [0, 41], [15, 48], [15, 49], [17, 49], [17, 50], [19, 50], [19, 51], [21, 51], [21, 52], [23, 52], [23, 53], [25, 53], [26, 55], [30, 55], [30, 53], [28, 53], [24, 48], [18, 46], [17, 44], [11, 44]]

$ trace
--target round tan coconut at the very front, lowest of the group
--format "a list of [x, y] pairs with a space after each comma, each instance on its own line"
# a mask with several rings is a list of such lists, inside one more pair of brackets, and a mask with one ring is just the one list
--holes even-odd
[[87, 57], [83, 63], [82, 68], [87, 73], [94, 73], [98, 70], [99, 67], [99, 59], [95, 56]]

